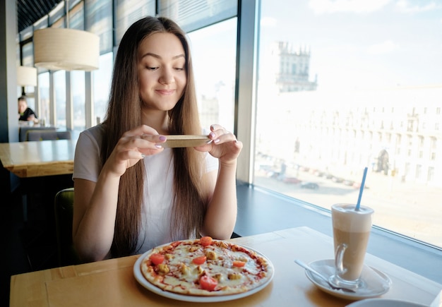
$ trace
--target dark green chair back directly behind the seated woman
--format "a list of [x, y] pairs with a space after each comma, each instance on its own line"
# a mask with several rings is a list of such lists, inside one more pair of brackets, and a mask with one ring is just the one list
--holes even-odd
[[73, 188], [64, 188], [55, 195], [55, 226], [59, 265], [80, 263], [72, 242]]

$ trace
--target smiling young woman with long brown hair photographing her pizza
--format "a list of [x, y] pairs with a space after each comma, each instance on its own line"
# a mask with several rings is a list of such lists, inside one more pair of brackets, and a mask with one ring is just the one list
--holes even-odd
[[119, 45], [106, 120], [76, 146], [73, 242], [83, 261], [231, 236], [242, 143], [213, 124], [207, 145], [162, 147], [167, 135], [201, 133], [184, 32], [167, 18], [138, 20]]

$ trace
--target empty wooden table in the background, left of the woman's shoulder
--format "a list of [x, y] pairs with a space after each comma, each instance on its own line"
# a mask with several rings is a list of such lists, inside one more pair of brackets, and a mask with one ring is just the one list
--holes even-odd
[[20, 178], [72, 174], [76, 140], [0, 143], [5, 169]]

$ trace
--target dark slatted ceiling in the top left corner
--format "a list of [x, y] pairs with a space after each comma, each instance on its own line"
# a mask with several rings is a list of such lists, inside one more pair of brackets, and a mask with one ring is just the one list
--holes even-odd
[[18, 32], [34, 24], [63, 0], [17, 0]]

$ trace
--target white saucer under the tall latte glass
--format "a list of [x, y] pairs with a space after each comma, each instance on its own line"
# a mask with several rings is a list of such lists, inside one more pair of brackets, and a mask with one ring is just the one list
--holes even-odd
[[[335, 260], [333, 259], [313, 261], [310, 263], [310, 266], [327, 278], [335, 273]], [[364, 265], [361, 275], [364, 286], [355, 290], [354, 293], [345, 292], [340, 289], [332, 289], [330, 288], [330, 285], [323, 281], [323, 279], [307, 270], [306, 276], [311, 282], [313, 282], [313, 284], [316, 285], [316, 287], [327, 292], [328, 294], [338, 296], [342, 299], [351, 299], [355, 301], [359, 299], [370, 299], [376, 296], [381, 296], [382, 294], [387, 293], [391, 287], [390, 277], [385, 275], [383, 272], [367, 265]]]

